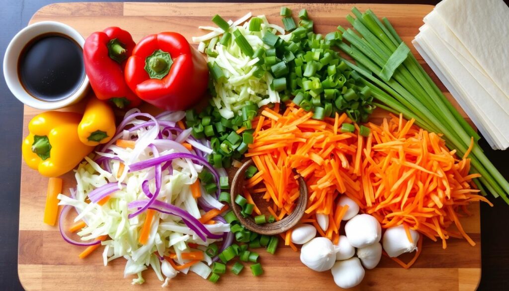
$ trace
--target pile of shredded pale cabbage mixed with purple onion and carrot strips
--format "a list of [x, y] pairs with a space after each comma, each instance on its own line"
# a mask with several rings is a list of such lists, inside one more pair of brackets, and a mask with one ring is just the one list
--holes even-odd
[[[58, 198], [67, 205], [60, 217], [64, 239], [90, 246], [80, 257], [103, 245], [104, 264], [126, 258], [124, 276], [138, 275], [133, 283], [144, 282], [141, 272], [148, 266], [164, 285], [178, 272], [205, 279], [212, 272], [217, 257], [207, 254], [207, 246], [222, 240], [221, 252], [233, 239], [230, 224], [218, 216], [228, 206], [217, 200], [219, 174], [206, 161], [211, 149], [193, 139], [191, 129], [176, 126], [183, 117], [131, 110], [95, 161], [86, 157], [79, 165], [72, 197]], [[211, 182], [200, 181], [206, 174]], [[78, 213], [72, 230], [81, 228], [81, 241], [62, 228], [72, 208]]]

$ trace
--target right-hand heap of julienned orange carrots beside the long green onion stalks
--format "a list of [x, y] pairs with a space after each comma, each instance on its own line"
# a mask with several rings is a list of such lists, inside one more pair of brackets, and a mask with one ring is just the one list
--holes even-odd
[[[347, 194], [383, 228], [404, 225], [434, 241], [441, 239], [443, 248], [449, 236], [463, 236], [475, 245], [461, 226], [457, 211], [472, 201], [492, 205], [477, 195], [472, 179], [479, 175], [469, 175], [466, 156], [460, 160], [439, 135], [413, 122], [392, 116], [381, 125], [367, 124], [371, 133], [364, 138], [359, 161], [360, 191]], [[449, 229], [453, 224], [457, 231]]]

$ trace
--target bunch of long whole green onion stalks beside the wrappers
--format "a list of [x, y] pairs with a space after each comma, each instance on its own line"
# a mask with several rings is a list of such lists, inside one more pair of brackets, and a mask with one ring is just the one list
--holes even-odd
[[[360, 74], [360, 82], [380, 101], [374, 105], [389, 112], [402, 113], [407, 119], [415, 119], [420, 127], [444, 134], [447, 146], [456, 148], [458, 154], [467, 151], [473, 138], [474, 147], [469, 156], [471, 172], [482, 175], [478, 180], [474, 179], [476, 186], [484, 195], [487, 190], [509, 204], [509, 182], [478, 146], [479, 135], [447, 100], [412, 53], [407, 50], [404, 61], [400, 58], [401, 63], [393, 63], [398, 59], [391, 58], [394, 51], [400, 47], [401, 55], [401, 46], [405, 44], [387, 18], [382, 22], [371, 10], [361, 13], [353, 8], [352, 13], [356, 18], [348, 15], [347, 20], [354, 30], [338, 27], [343, 40], [350, 45], [343, 41], [336, 45], [355, 60], [356, 64], [344, 59], [343, 62]], [[387, 75], [387, 68], [395, 69]]]

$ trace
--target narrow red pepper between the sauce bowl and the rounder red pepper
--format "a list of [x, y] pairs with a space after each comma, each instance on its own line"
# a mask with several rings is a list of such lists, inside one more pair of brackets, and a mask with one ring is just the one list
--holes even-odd
[[140, 100], [124, 78], [127, 58], [136, 43], [117, 27], [91, 34], [83, 45], [83, 61], [90, 85], [100, 100], [110, 100], [119, 108], [136, 107]]

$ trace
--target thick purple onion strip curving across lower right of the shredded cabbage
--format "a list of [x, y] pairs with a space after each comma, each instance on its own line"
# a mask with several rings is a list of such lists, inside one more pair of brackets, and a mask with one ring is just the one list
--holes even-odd
[[[147, 205], [147, 200], [138, 200], [129, 203], [129, 208], [139, 208]], [[213, 234], [210, 232], [199, 220], [194, 218], [191, 214], [189, 214], [186, 210], [177, 207], [172, 204], [168, 204], [163, 201], [155, 200], [150, 207], [150, 209], [157, 210], [161, 213], [170, 214], [178, 216], [184, 221], [184, 223], [189, 227], [192, 231], [196, 233], [196, 235], [200, 236], [200, 238], [205, 242], [207, 237], [209, 239], [220, 239], [222, 236], [220, 234]]]

